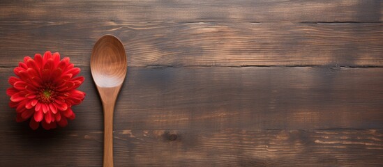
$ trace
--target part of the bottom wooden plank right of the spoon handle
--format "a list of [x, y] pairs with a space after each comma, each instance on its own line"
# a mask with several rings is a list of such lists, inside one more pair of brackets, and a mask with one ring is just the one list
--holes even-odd
[[[127, 166], [382, 166], [382, 131], [122, 131]], [[174, 141], [170, 136], [177, 135]], [[123, 147], [126, 143], [135, 143]], [[148, 154], [143, 154], [148, 153]], [[127, 162], [126, 159], [129, 159]]]

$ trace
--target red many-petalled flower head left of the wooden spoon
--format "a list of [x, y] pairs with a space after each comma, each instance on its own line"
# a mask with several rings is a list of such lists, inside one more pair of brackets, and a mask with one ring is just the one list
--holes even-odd
[[69, 63], [69, 58], [60, 60], [58, 52], [46, 51], [44, 56], [24, 57], [13, 70], [17, 77], [10, 77], [6, 93], [9, 106], [16, 108], [17, 122], [31, 118], [29, 126], [37, 129], [54, 129], [57, 124], [65, 127], [75, 118], [71, 107], [84, 100], [85, 93], [76, 90], [84, 77], [76, 77], [80, 68]]

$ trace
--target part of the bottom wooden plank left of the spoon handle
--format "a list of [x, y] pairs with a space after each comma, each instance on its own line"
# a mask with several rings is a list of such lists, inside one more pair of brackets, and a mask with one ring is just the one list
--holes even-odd
[[102, 166], [101, 131], [0, 131], [0, 166]]

